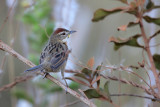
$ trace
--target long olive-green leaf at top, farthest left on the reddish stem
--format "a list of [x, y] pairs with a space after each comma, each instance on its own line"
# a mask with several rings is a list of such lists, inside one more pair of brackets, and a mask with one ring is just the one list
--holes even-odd
[[115, 8], [112, 10], [106, 10], [106, 9], [98, 9], [94, 12], [94, 16], [92, 18], [93, 22], [97, 22], [100, 21], [102, 19], [104, 19], [105, 17], [113, 14], [113, 13], [117, 13], [124, 10], [124, 7], [119, 7], [119, 8]]

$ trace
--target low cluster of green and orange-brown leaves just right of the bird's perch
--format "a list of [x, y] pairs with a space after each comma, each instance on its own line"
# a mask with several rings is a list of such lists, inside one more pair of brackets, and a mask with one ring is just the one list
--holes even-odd
[[88, 61], [87, 67], [83, 68], [80, 72], [71, 72], [73, 73], [73, 77], [66, 77], [66, 79], [87, 86], [89, 89], [85, 90], [84, 93], [89, 99], [98, 98], [112, 102], [109, 94], [109, 81], [104, 84], [103, 88], [100, 87], [102, 64], [98, 65], [96, 69], [93, 69], [93, 66], [94, 58], [92, 57]]

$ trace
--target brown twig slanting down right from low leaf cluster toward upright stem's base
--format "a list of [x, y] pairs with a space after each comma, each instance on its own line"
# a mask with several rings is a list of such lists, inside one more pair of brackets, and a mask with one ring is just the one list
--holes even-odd
[[132, 86], [134, 86], [134, 87], [141, 88], [141, 89], [143, 89], [147, 94], [152, 95], [152, 92], [150, 92], [148, 88], [146, 88], [145, 86], [136, 84], [136, 83], [134, 83], [134, 82], [132, 82], [132, 81], [128, 81], [128, 80], [124, 80], [124, 79], [119, 79], [119, 78], [117, 78], [117, 77], [115, 77], [115, 76], [113, 76], [113, 77], [111, 77], [111, 76], [104, 76], [104, 75], [102, 75], [102, 74], [101, 74], [101, 76], [102, 76], [103, 78], [105, 78], [105, 79], [110, 79], [110, 80], [113, 80], [113, 81], [119, 81], [119, 82], [121, 82], [121, 83], [129, 84], [129, 85], [132, 85]]

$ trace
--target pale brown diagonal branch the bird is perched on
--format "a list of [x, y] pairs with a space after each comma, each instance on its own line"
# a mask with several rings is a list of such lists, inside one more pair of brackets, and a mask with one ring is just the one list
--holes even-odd
[[[23, 56], [18, 54], [16, 51], [14, 51], [12, 48], [10, 48], [7, 44], [3, 43], [1, 40], [0, 40], [0, 49], [3, 50], [3, 51], [8, 52], [10, 55], [16, 57], [17, 59], [21, 60], [22, 62], [24, 62], [25, 64], [29, 65], [30, 67], [34, 67], [35, 66], [31, 61], [27, 60], [26, 58], [24, 58]], [[44, 75], [43, 73], [39, 73], [39, 74], [40, 75]], [[55, 79], [51, 75], [49, 75], [49, 74], [46, 75], [46, 78], [49, 79], [50, 81], [54, 82], [55, 84], [59, 85], [64, 90], [67, 90], [68, 93], [70, 93], [71, 95], [75, 96], [76, 98], [78, 98], [79, 100], [81, 100], [82, 102], [87, 104], [88, 106], [96, 107], [96, 105], [94, 105], [90, 100], [84, 98], [83, 96], [81, 96], [76, 91], [66, 87], [64, 84], [62, 84], [60, 81], [58, 81], [57, 79]], [[24, 79], [24, 81], [25, 81], [25, 79]], [[14, 84], [9, 84], [8, 86], [4, 87], [4, 89], [7, 89], [7, 87], [10, 87], [10, 86], [14, 86]]]

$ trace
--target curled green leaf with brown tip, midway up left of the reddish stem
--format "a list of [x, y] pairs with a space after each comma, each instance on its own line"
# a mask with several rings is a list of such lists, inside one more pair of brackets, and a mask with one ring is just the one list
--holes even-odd
[[143, 46], [139, 45], [139, 43], [137, 41], [139, 37], [141, 37], [140, 34], [134, 35], [134, 36], [129, 37], [127, 39], [110, 37], [109, 42], [114, 43], [114, 50], [118, 50], [120, 47], [125, 46], [125, 45], [144, 48]]

